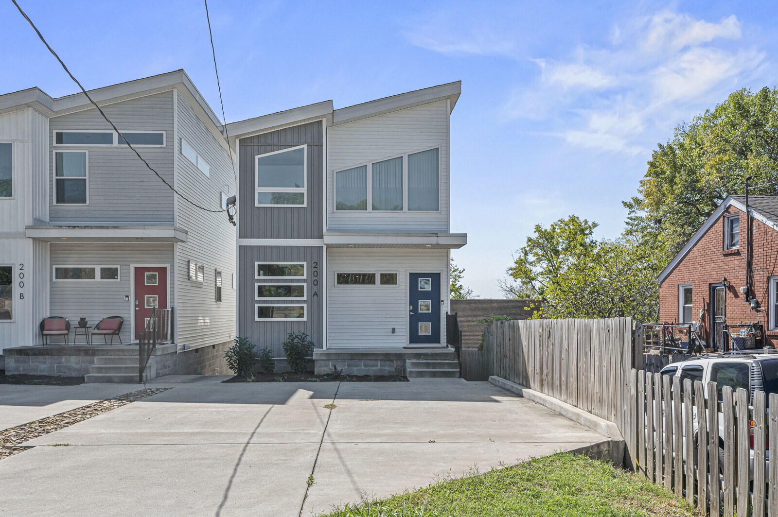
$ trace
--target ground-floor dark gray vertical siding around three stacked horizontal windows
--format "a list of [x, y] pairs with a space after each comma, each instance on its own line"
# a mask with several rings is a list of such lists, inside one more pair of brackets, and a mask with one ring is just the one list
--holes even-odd
[[[305, 332], [314, 341], [316, 348], [323, 346], [323, 298], [324, 298], [324, 257], [323, 246], [240, 246], [238, 251], [240, 264], [240, 328], [238, 335], [247, 337], [259, 348], [270, 348], [274, 357], [283, 357], [281, 344], [286, 341], [289, 332]], [[301, 283], [307, 285], [307, 321], [255, 321], [254, 304], [260, 303], [256, 297], [256, 283], [254, 278], [255, 262], [305, 262], [307, 264], [306, 276], [303, 280], [262, 280], [268, 283]], [[314, 277], [314, 262], [318, 266], [318, 276]], [[314, 286], [314, 279], [318, 285]], [[314, 295], [318, 293], [318, 295]], [[300, 300], [282, 301], [267, 300], [261, 303], [278, 303], [279, 305], [303, 303]]]

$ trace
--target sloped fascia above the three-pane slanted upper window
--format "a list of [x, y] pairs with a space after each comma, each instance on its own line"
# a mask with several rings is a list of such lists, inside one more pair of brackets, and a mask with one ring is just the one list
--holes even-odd
[[413, 92], [400, 93], [384, 99], [371, 100], [367, 103], [356, 104], [335, 110], [332, 113], [333, 124], [345, 124], [361, 118], [374, 117], [376, 115], [402, 110], [420, 104], [432, 103], [436, 100], [450, 99], [450, 110], [454, 110], [462, 91], [462, 82], [449, 82], [445, 85], [432, 86], [425, 89], [417, 89]]

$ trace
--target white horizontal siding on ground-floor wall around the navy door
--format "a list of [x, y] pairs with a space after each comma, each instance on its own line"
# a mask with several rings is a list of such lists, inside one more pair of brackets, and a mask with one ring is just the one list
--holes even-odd
[[[328, 348], [403, 347], [408, 344], [408, 274], [440, 272], [440, 298], [448, 299], [448, 251], [412, 249], [327, 250]], [[397, 285], [335, 285], [338, 272], [395, 271]], [[431, 300], [440, 303], [440, 300]], [[445, 342], [446, 307], [440, 339]], [[395, 329], [392, 334], [392, 328]]]

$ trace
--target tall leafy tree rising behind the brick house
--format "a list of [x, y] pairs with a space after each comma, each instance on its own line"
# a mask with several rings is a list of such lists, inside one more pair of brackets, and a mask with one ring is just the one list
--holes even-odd
[[[776, 195], [778, 89], [741, 89], [659, 144], [629, 209], [625, 235], [666, 263], [731, 194]], [[765, 184], [768, 183], [768, 184]], [[770, 184], [772, 183], [772, 184]]]

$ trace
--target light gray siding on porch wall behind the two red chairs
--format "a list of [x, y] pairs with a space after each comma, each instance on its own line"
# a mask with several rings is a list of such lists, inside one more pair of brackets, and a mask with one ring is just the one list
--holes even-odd
[[[50, 314], [47, 316], [67, 318], [71, 329], [78, 325], [76, 322], [82, 316], [92, 327], [106, 316], [121, 316], [124, 318], [121, 327], [124, 343], [131, 341], [130, 318], [135, 317], [132, 300], [124, 300], [125, 295], [130, 295], [130, 264], [170, 264], [173, 267], [173, 244], [52, 243], [50, 255]], [[52, 281], [53, 266], [66, 265], [120, 266], [120, 281]], [[168, 274], [168, 278], [172, 298], [175, 280], [172, 274]], [[72, 339], [72, 333], [70, 337]], [[84, 343], [82, 340], [83, 337], [79, 337], [79, 344]], [[114, 344], [116, 341], [114, 339]]]

